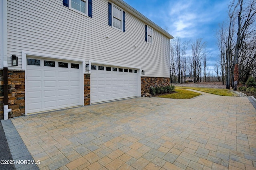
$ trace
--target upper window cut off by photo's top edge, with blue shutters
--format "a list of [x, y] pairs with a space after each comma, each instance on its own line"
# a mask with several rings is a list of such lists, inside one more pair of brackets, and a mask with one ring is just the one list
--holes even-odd
[[63, 5], [70, 10], [92, 17], [92, 0], [63, 0]]

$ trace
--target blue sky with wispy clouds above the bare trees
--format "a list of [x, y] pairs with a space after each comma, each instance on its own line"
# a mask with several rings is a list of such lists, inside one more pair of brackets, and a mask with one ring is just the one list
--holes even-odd
[[[213, 68], [218, 59], [216, 31], [228, 20], [230, 0], [124, 0], [138, 12], [182, 41], [202, 38]], [[190, 52], [188, 51], [188, 54]]]

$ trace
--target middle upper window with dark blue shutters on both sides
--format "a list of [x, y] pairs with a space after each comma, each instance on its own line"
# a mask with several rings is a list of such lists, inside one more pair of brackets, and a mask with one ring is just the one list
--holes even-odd
[[125, 12], [111, 3], [108, 3], [108, 25], [125, 32]]

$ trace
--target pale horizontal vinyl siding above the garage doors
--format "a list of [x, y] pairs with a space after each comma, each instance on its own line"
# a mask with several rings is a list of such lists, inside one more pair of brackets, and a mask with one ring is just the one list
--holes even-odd
[[[145, 23], [128, 12], [126, 32], [108, 26], [107, 0], [93, 0], [92, 18], [69, 10], [62, 0], [8, 1], [10, 69], [22, 68], [25, 50], [131, 65], [141, 67], [147, 77], [169, 77], [170, 40], [157, 30], [153, 38], [153, 44], [145, 42]], [[18, 56], [17, 67], [11, 66], [11, 55]]]

